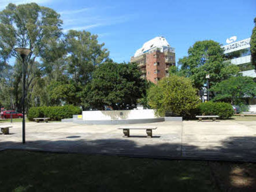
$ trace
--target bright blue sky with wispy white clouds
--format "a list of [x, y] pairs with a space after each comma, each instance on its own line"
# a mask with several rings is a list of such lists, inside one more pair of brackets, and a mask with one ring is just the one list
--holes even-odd
[[129, 62], [143, 43], [164, 36], [176, 49], [176, 62], [199, 40], [221, 44], [231, 36], [251, 36], [256, 0], [0, 0], [8, 3], [35, 2], [61, 14], [64, 32], [86, 30], [98, 35], [115, 62]]

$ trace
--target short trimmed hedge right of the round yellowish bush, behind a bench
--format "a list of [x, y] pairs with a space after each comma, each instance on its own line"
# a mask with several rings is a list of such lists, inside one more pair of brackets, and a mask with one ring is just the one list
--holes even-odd
[[218, 115], [221, 119], [228, 119], [234, 114], [234, 110], [229, 103], [205, 102], [199, 104], [199, 115]]

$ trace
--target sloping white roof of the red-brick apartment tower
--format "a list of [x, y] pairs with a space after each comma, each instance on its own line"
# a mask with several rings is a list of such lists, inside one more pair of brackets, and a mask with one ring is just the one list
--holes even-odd
[[152, 48], [161, 48], [161, 47], [170, 47], [169, 43], [165, 39], [165, 37], [155, 37], [154, 39], [149, 40], [148, 42], [144, 43], [142, 48], [139, 48], [136, 52], [134, 57], [137, 57], [144, 52], [151, 50]]

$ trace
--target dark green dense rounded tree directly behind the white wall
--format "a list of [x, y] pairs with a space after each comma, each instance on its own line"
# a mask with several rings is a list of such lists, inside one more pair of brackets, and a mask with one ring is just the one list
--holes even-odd
[[135, 107], [142, 94], [146, 94], [146, 81], [140, 76], [135, 63], [109, 61], [99, 65], [81, 94], [83, 106], [98, 110], [103, 110], [104, 106], [116, 110]]

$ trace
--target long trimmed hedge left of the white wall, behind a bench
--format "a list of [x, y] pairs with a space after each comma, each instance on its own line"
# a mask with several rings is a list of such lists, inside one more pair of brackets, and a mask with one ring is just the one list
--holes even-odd
[[28, 110], [28, 119], [33, 121], [33, 118], [51, 118], [51, 121], [61, 121], [61, 119], [72, 118], [77, 114], [81, 114], [81, 109], [72, 105], [31, 107]]

